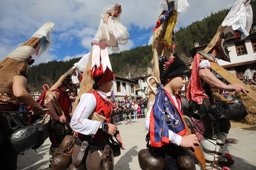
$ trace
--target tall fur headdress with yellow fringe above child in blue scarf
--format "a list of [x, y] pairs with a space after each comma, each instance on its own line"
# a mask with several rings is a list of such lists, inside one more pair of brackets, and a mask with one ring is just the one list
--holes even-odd
[[[160, 8], [163, 8], [163, 12], [160, 14], [157, 24], [152, 31], [152, 53], [153, 59], [151, 63], [153, 66], [152, 76], [160, 80], [160, 70], [158, 57], [166, 56], [167, 59], [173, 58], [175, 42], [174, 42], [174, 28], [177, 25], [177, 16], [180, 12], [186, 11], [189, 8], [189, 4], [186, 0], [161, 0], [159, 4]], [[156, 86], [154, 79], [151, 79], [150, 84]], [[149, 103], [155, 99], [154, 93], [149, 91]], [[148, 105], [149, 107], [149, 105]]]

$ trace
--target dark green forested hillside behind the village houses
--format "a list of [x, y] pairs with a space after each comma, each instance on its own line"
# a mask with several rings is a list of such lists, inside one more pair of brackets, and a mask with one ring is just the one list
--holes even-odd
[[[251, 6], [253, 8], [253, 21], [256, 22], [256, 0], [251, 2]], [[209, 43], [229, 11], [230, 9], [224, 9], [217, 13], [212, 13], [203, 20], [196, 21], [175, 32], [176, 52], [184, 62], [192, 60], [189, 50], [194, 47], [194, 42], [198, 41], [200, 45]], [[232, 36], [232, 34], [227, 34], [224, 38], [228, 38], [228, 36]], [[128, 51], [113, 53], [109, 56], [116, 75], [125, 77], [129, 72], [131, 75], [143, 74], [152, 59], [152, 46], [139, 46]], [[27, 76], [30, 90], [41, 90], [42, 85], [46, 83], [52, 86], [79, 59], [50, 61], [32, 66]]]

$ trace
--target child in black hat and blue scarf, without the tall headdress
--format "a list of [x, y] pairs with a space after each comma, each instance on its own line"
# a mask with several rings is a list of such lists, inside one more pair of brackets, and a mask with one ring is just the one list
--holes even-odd
[[[150, 133], [151, 147], [157, 148], [158, 154], [164, 158], [166, 170], [195, 170], [195, 162], [184, 148], [195, 149], [194, 144], [199, 145], [199, 142], [194, 134], [183, 136], [186, 128], [180, 111], [182, 98], [175, 95], [175, 91], [180, 91], [185, 85], [188, 69], [176, 54], [174, 56], [170, 59], [159, 57], [162, 84], [157, 84], [157, 94], [150, 103], [145, 125]], [[146, 166], [151, 165], [145, 164], [145, 169]], [[159, 166], [161, 169], [163, 164]]]

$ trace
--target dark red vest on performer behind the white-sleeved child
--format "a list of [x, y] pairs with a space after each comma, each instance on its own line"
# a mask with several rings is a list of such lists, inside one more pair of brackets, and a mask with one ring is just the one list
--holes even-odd
[[[69, 115], [70, 111], [72, 111], [72, 105], [71, 105], [71, 102], [70, 102], [70, 97], [69, 97], [68, 92], [67, 91], [64, 92], [59, 88], [57, 88], [53, 91], [57, 91], [60, 94], [60, 97], [58, 98], [57, 101], [60, 104], [64, 115], [65, 116]], [[70, 107], [71, 107], [71, 110], [70, 110]]]

